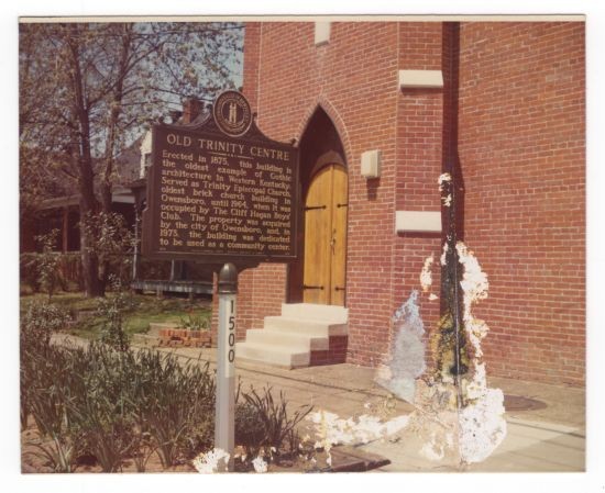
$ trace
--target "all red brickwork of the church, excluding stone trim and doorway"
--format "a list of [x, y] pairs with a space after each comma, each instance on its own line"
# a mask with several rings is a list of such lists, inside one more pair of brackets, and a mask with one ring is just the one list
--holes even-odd
[[[287, 46], [287, 49], [284, 48]], [[584, 32], [579, 23], [463, 23], [459, 154], [465, 239], [488, 273], [475, 309], [492, 374], [581, 384], [584, 379]], [[442, 90], [404, 90], [399, 69], [444, 68], [442, 23], [246, 24], [244, 93], [272, 138], [300, 138], [318, 104], [349, 166], [348, 361], [377, 365], [393, 311], [419, 287], [439, 235], [394, 234], [396, 210], [440, 210]], [[382, 150], [382, 176], [360, 176], [360, 155]], [[239, 338], [279, 313], [286, 267], [241, 278]], [[245, 294], [244, 294], [245, 292]], [[421, 300], [426, 328], [439, 302]]]

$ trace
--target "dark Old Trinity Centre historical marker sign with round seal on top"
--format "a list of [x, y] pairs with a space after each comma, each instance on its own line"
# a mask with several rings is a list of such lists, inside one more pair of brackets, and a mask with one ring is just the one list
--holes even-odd
[[199, 125], [153, 127], [143, 255], [211, 262], [296, 258], [298, 149], [267, 138], [237, 91]]

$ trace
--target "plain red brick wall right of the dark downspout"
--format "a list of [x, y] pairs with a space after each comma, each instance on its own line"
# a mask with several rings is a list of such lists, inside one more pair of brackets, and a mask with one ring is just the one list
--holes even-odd
[[584, 24], [463, 23], [466, 244], [492, 374], [584, 382]]

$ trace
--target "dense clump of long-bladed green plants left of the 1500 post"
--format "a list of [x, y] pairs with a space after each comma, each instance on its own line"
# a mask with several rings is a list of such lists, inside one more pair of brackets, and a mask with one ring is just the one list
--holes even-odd
[[22, 352], [22, 397], [47, 440], [37, 455], [53, 470], [69, 472], [91, 455], [106, 472], [128, 457], [142, 471], [154, 451], [168, 468], [213, 445], [208, 365], [103, 343], [41, 348]]

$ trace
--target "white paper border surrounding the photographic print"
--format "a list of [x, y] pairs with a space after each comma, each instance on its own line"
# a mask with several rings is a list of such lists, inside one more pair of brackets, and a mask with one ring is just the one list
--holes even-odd
[[[127, 7], [128, 3], [128, 7]], [[0, 121], [2, 160], [2, 305], [4, 337], [2, 337], [1, 369], [4, 377], [2, 390], [7, 404], [3, 406], [2, 447], [0, 450], [0, 474], [2, 482], [9, 488], [6, 491], [44, 491], [46, 492], [107, 492], [120, 491], [195, 491], [204, 489], [224, 489], [226, 484], [238, 490], [266, 491], [275, 489], [305, 490], [321, 488], [323, 491], [376, 491], [378, 488], [396, 491], [435, 491], [437, 488], [448, 492], [474, 491], [507, 492], [510, 491], [595, 491], [605, 492], [605, 426], [602, 425], [604, 405], [603, 374], [605, 374], [605, 327], [600, 305], [605, 300], [603, 279], [605, 279], [605, 206], [601, 199], [605, 183], [605, 8], [604, 2], [588, 0], [549, 0], [528, 2], [527, 0], [373, 0], [372, 2], [354, 3], [351, 0], [331, 2], [307, 0], [305, 2], [265, 1], [244, 2], [223, 0], [221, 2], [201, 2], [199, 0], [146, 0], [145, 2], [124, 2], [123, 0], [103, 0], [87, 2], [85, 0], [22, 0], [19, 2], [1, 2], [0, 36], [3, 56], [0, 58], [2, 77], [2, 108], [4, 117]], [[396, 5], [396, 7], [394, 7]], [[587, 307], [588, 307], [588, 348], [587, 348], [587, 396], [588, 396], [588, 434], [587, 434], [587, 467], [584, 474], [308, 474], [312, 478], [273, 475], [263, 477], [212, 477], [194, 478], [189, 474], [147, 474], [138, 475], [95, 475], [77, 477], [44, 475], [22, 477], [19, 474], [19, 374], [18, 374], [18, 307], [19, 288], [18, 269], [19, 253], [18, 235], [18, 91], [16, 91], [16, 55], [19, 15], [110, 15], [110, 14], [554, 14], [584, 13], [586, 21], [587, 46]], [[578, 272], [583, 276], [582, 271]], [[600, 383], [597, 383], [600, 382]], [[597, 410], [601, 410], [598, 413]], [[601, 471], [596, 469], [601, 464]], [[338, 477], [338, 478], [337, 478]], [[319, 482], [318, 482], [319, 481]], [[338, 485], [333, 482], [339, 481]], [[317, 484], [316, 484], [317, 482]], [[343, 488], [344, 486], [344, 488]], [[431, 488], [432, 486], [432, 488]]]

